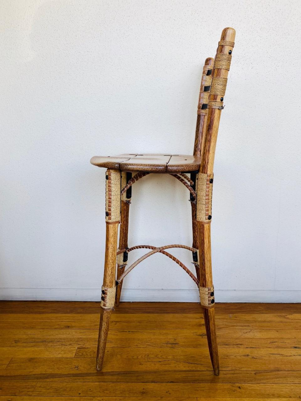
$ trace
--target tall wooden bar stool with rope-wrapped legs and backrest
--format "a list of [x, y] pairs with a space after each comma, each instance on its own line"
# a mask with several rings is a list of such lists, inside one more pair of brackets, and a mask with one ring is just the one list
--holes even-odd
[[[213, 164], [227, 85], [228, 71], [234, 47], [235, 30], [222, 31], [215, 59], [205, 60], [199, 104], [193, 156], [173, 154], [120, 154], [112, 157], [94, 156], [94, 166], [106, 170], [106, 254], [104, 262], [104, 284], [102, 286], [100, 328], [96, 369], [102, 369], [110, 316], [118, 306], [124, 277], [138, 263], [153, 255], [162, 253], [184, 269], [199, 288], [199, 296], [205, 320], [205, 328], [212, 366], [219, 374], [218, 345], [214, 318], [214, 287], [211, 267], [210, 223], [212, 219]], [[128, 213], [132, 196], [132, 185], [148, 174], [171, 174], [184, 184], [190, 192], [192, 212], [192, 247], [166, 245], [155, 247], [136, 245], [128, 247]], [[187, 176], [189, 174], [189, 176]], [[120, 223], [119, 248], [117, 250], [118, 226]], [[127, 269], [128, 253], [134, 249], [150, 251]], [[192, 252], [196, 276], [167, 250], [185, 248]], [[116, 279], [117, 258], [117, 279]]]

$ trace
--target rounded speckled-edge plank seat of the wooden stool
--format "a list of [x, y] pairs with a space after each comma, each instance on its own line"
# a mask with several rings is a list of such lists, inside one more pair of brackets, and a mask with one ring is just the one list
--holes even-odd
[[190, 172], [198, 171], [199, 156], [184, 154], [118, 154], [117, 156], [94, 156], [91, 164], [121, 171]]

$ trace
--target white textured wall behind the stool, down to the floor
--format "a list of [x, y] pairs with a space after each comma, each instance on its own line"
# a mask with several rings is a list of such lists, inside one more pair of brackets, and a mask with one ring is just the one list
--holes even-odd
[[[15, 0], [0, 9], [2, 299], [100, 299], [105, 170], [89, 159], [190, 154], [203, 62], [233, 26], [214, 168], [216, 299], [301, 301], [299, 1]], [[135, 184], [129, 244], [191, 245], [188, 198], [166, 175]], [[189, 251], [174, 254], [193, 268]], [[197, 301], [188, 275], [162, 255], [124, 288], [123, 300]]]

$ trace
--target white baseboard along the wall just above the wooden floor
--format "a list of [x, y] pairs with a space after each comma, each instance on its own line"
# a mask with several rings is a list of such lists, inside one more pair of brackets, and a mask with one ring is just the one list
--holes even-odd
[[[0, 300], [100, 301], [100, 288], [0, 288]], [[216, 302], [301, 302], [301, 290], [215, 290]], [[197, 290], [124, 288], [126, 302], [199, 302]]]

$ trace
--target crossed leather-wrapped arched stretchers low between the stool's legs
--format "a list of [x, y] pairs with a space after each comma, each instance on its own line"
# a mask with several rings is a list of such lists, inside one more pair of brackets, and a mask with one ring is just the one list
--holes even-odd
[[170, 253], [166, 252], [165, 249], [170, 249], [170, 248], [183, 248], [183, 249], [188, 249], [191, 252], [196, 252], [197, 249], [192, 248], [192, 247], [188, 247], [186, 245], [179, 245], [179, 244], [174, 244], [174, 245], [165, 245], [164, 247], [154, 247], [152, 245], [136, 245], [135, 247], [132, 248], [128, 248], [128, 249], [121, 249], [120, 251], [118, 251], [117, 254], [120, 254], [124, 251], [130, 252], [134, 249], [141, 249], [141, 248], [146, 248], [146, 249], [151, 249], [150, 252], [146, 253], [145, 255], [141, 256], [139, 259], [137, 259], [134, 263], [132, 263], [130, 265], [130, 267], [128, 267], [126, 269], [126, 271], [124, 271], [124, 273], [119, 277], [119, 279], [117, 280], [116, 283], [120, 284], [122, 282], [122, 280], [124, 279], [124, 277], [130, 273], [130, 271], [132, 271], [132, 269], [134, 269], [134, 267], [136, 267], [140, 262], [142, 262], [144, 259], [146, 259], [147, 257], [154, 255], [155, 253], [162, 253], [165, 256], [168, 256], [170, 259], [172, 259], [173, 261], [175, 261], [179, 266], [182, 267], [182, 269], [184, 271], [186, 271], [186, 273], [189, 275], [189, 277], [191, 277], [193, 279], [193, 281], [195, 282], [195, 284], [197, 286], [199, 286], [199, 280], [195, 277], [195, 275], [193, 273], [191, 273], [191, 271], [188, 269], [188, 267], [186, 267], [179, 259], [177, 259], [175, 256], [171, 255]]

